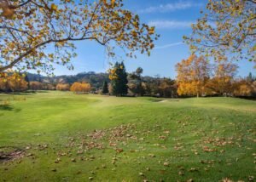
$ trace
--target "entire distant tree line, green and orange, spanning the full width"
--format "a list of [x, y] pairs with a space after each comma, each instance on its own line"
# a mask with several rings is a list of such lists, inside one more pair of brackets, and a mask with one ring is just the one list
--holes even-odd
[[[213, 64], [214, 63], [214, 64]], [[108, 73], [79, 73], [76, 76], [43, 77], [36, 74], [9, 73], [0, 78], [0, 91], [26, 90], [72, 91], [75, 94], [108, 94], [115, 96], [255, 97], [256, 77], [236, 77], [238, 66], [228, 60], [214, 61], [192, 54], [177, 63], [177, 79], [143, 77], [143, 68], [128, 73], [124, 62], [116, 62]]]

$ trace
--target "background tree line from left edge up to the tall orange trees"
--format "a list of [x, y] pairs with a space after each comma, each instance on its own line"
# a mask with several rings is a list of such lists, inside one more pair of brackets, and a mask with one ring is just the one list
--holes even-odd
[[[113, 74], [111, 74], [111, 72]], [[44, 77], [38, 74], [12, 74], [0, 78], [0, 92], [22, 92], [26, 90], [72, 91], [75, 94], [108, 94], [116, 96], [176, 97], [177, 86], [167, 77], [143, 77], [143, 69], [128, 73], [124, 63], [116, 63], [108, 73], [84, 72], [76, 76]], [[15, 80], [11, 77], [20, 77]], [[116, 76], [116, 77], [114, 77]], [[7, 79], [6, 79], [7, 78]], [[118, 79], [114, 79], [118, 78]], [[12, 82], [10, 82], [12, 81]], [[19, 82], [22, 82], [22, 87]], [[15, 87], [12, 85], [16, 84]]]

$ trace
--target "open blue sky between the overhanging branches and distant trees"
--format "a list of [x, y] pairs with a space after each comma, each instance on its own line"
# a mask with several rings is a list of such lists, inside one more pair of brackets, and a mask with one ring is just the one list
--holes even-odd
[[[206, 7], [207, 0], [125, 0], [125, 9], [139, 14], [144, 23], [156, 26], [160, 39], [148, 57], [137, 54], [136, 60], [124, 57], [127, 71], [143, 68], [144, 76], [176, 77], [175, 65], [189, 57], [189, 48], [183, 44], [183, 35], [191, 33], [190, 25], [201, 17], [200, 10]], [[74, 70], [68, 71], [57, 66], [55, 75], [74, 75], [83, 71], [104, 72], [109, 68], [105, 50], [92, 42], [76, 43], [78, 57], [73, 59]], [[240, 61], [239, 75], [247, 76], [253, 63]]]

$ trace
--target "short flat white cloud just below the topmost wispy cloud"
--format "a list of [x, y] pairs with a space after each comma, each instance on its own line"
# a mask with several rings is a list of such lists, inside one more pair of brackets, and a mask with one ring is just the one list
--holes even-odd
[[155, 26], [158, 29], [183, 29], [190, 28], [194, 21], [177, 21], [177, 20], [154, 20], [149, 21], [149, 26]]

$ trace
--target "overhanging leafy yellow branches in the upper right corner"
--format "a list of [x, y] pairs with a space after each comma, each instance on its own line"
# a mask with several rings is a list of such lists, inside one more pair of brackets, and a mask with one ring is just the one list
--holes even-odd
[[256, 1], [209, 0], [203, 17], [184, 37], [193, 53], [214, 60], [229, 56], [233, 60], [256, 61]]

